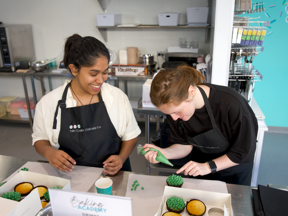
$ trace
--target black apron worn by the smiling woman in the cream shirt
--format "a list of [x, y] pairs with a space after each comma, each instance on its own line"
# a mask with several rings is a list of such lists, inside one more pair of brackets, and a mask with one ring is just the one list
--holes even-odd
[[[109, 156], [119, 155], [122, 140], [110, 120], [100, 92], [98, 103], [66, 108], [69, 85], [63, 92], [62, 100], [58, 101], [54, 115], [53, 129], [56, 129], [60, 107], [59, 149], [69, 154], [76, 165], [103, 167]], [[120, 170], [131, 172], [129, 157]]]

